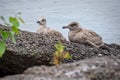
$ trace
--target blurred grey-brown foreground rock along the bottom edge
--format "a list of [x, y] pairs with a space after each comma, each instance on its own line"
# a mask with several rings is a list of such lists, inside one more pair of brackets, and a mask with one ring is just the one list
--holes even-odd
[[35, 66], [0, 80], [119, 80], [120, 59], [94, 57], [57, 66]]

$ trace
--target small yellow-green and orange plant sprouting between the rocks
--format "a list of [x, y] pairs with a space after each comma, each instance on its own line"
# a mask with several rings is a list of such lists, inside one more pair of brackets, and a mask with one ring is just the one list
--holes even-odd
[[64, 51], [65, 46], [63, 46], [61, 42], [58, 42], [57, 44], [55, 44], [54, 47], [56, 51], [53, 56], [53, 64], [57, 65], [57, 64], [60, 64], [63, 59], [71, 58], [69, 52]]

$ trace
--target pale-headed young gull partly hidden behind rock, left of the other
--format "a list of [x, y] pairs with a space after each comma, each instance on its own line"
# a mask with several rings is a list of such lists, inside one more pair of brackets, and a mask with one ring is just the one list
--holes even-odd
[[39, 27], [36, 30], [36, 33], [46, 35], [50, 37], [52, 40], [60, 40], [60, 41], [66, 40], [60, 32], [47, 27], [46, 22], [47, 20], [45, 18], [40, 18], [37, 21], [37, 23], [39, 23]]

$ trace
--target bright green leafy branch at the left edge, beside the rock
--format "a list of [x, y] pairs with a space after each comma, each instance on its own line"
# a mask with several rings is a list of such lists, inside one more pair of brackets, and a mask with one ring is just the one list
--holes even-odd
[[6, 40], [10, 38], [13, 41], [13, 43], [16, 43], [14, 36], [15, 34], [19, 34], [18, 27], [20, 26], [20, 22], [24, 23], [24, 21], [21, 17], [18, 17], [17, 15], [15, 17], [10, 16], [8, 20], [9, 23], [5, 20], [3, 16], [0, 16], [0, 19], [4, 22], [6, 26], [11, 26], [11, 29], [9, 31], [5, 31], [3, 29], [0, 30], [0, 37], [2, 38], [0, 40], [0, 58], [1, 58], [6, 50]]

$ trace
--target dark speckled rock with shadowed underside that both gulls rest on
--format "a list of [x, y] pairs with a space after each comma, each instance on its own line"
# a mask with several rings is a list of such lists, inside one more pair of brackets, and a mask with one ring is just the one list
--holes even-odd
[[[9, 28], [0, 25], [0, 29]], [[25, 69], [37, 65], [53, 65], [52, 58], [55, 52], [54, 45], [57, 40], [51, 40], [49, 36], [33, 32], [21, 31], [15, 36], [17, 43], [10, 40], [7, 43], [7, 50], [0, 59], [0, 75], [22, 73]], [[1, 39], [1, 37], [0, 37]], [[78, 61], [80, 59], [94, 56], [119, 56], [120, 46], [116, 44], [107, 47], [95, 48], [85, 44], [63, 42], [65, 50], [70, 52], [72, 59], [64, 60], [64, 63]]]

